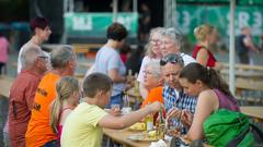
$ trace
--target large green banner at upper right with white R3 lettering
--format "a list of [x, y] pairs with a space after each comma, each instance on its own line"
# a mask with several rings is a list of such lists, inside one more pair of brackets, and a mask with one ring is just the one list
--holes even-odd
[[[228, 40], [229, 5], [176, 5], [176, 27], [194, 41], [194, 28], [203, 23], [217, 27], [221, 39]], [[242, 26], [250, 26], [253, 37], [259, 41], [263, 34], [263, 9], [261, 7], [236, 8], [236, 35]]]

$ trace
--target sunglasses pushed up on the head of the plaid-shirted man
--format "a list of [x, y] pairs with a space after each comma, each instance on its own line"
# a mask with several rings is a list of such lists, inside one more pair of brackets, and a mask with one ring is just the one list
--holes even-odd
[[164, 58], [162, 58], [160, 60], [160, 65], [163, 66], [165, 65], [167, 63], [180, 63], [182, 65], [184, 65], [184, 61], [183, 61], [183, 58], [180, 56], [180, 54], [175, 54], [175, 53], [171, 53], [171, 54], [168, 54], [165, 56]]

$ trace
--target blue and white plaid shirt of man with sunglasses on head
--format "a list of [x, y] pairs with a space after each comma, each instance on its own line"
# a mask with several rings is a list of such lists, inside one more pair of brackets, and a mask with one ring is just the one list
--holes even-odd
[[[164, 108], [168, 112], [171, 108], [176, 107], [180, 110], [188, 110], [192, 113], [195, 112], [195, 107], [197, 102], [197, 98], [191, 97], [183, 91], [179, 91], [168, 85], [163, 87], [162, 90], [162, 97], [164, 100]], [[171, 120], [172, 126], [183, 126], [183, 124], [180, 122], [180, 119], [172, 119]], [[182, 133], [186, 133], [186, 127], [182, 128]]]

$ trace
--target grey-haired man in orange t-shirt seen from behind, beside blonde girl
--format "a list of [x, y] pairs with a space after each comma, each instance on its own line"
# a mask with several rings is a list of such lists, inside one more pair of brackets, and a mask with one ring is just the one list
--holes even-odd
[[25, 134], [26, 147], [57, 146], [57, 136], [49, 125], [49, 106], [56, 97], [56, 82], [62, 76], [72, 76], [77, 57], [69, 46], [61, 46], [50, 53], [53, 70], [41, 81]]

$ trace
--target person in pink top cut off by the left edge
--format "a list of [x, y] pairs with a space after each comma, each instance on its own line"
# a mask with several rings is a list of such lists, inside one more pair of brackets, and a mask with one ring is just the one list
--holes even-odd
[[8, 39], [0, 34], [0, 75], [2, 74], [2, 69], [5, 66], [9, 56], [9, 41]]

